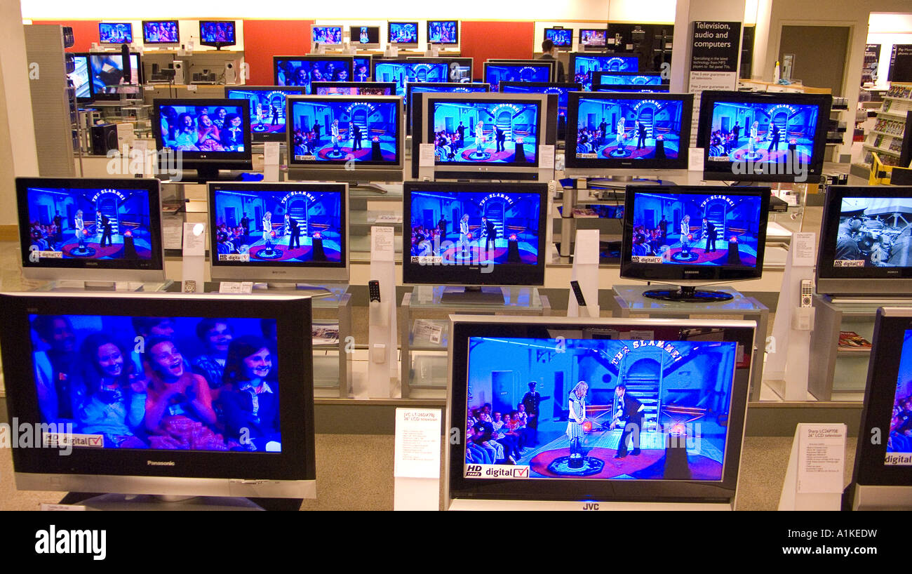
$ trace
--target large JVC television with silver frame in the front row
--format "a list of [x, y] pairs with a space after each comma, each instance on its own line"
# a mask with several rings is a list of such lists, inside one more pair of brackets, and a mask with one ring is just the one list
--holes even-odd
[[731, 510], [754, 329], [718, 319], [451, 316], [445, 424], [464, 440], [444, 449], [445, 504]]

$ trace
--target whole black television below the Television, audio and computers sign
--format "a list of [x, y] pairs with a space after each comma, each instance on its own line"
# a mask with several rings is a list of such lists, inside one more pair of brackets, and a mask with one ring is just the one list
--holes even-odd
[[824, 168], [828, 94], [707, 90], [700, 96], [697, 147], [703, 178], [805, 182]]

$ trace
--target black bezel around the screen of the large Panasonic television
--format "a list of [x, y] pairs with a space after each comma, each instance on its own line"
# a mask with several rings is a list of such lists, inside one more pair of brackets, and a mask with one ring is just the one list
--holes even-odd
[[[295, 299], [295, 300], [288, 300]], [[0, 345], [10, 417], [38, 422], [28, 315], [102, 315], [136, 317], [275, 318], [279, 339], [282, 452], [239, 453], [151, 449], [74, 448], [60, 456], [52, 448], [13, 449], [16, 473], [37, 475], [111, 475], [161, 478], [315, 480], [313, 350], [310, 337], [291, 337], [311, 323], [307, 297], [230, 295], [66, 294], [0, 295]], [[235, 302], [236, 305], [229, 305]], [[24, 358], [26, 358], [24, 360]], [[302, 416], [303, 414], [303, 416]], [[112, 453], [118, 453], [112, 455]], [[148, 464], [150, 460], [174, 464]], [[255, 464], [254, 464], [255, 463]], [[140, 485], [141, 487], [141, 485]]]

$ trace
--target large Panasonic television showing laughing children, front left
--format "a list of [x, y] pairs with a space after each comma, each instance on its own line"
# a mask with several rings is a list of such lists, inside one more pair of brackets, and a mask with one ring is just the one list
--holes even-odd
[[7, 411], [40, 429], [17, 488], [316, 496], [309, 298], [0, 299]]

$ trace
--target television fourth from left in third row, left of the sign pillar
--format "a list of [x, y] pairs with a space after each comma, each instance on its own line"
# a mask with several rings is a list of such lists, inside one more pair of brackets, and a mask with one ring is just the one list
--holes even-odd
[[687, 169], [693, 94], [572, 92], [566, 169]]

